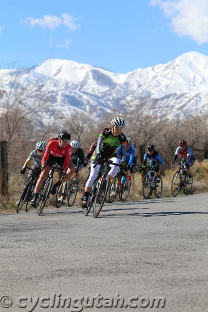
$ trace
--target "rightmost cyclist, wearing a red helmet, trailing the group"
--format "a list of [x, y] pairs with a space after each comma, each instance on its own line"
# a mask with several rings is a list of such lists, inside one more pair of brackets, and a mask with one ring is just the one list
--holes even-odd
[[187, 145], [186, 140], [179, 141], [179, 146], [176, 148], [175, 155], [171, 161], [171, 165], [174, 164], [178, 156], [183, 159], [187, 175], [191, 177], [190, 167], [193, 166], [195, 162], [195, 156], [192, 154], [191, 147]]

